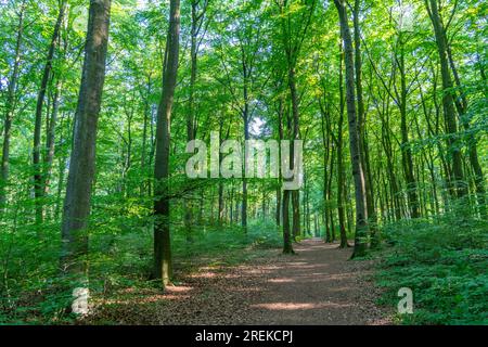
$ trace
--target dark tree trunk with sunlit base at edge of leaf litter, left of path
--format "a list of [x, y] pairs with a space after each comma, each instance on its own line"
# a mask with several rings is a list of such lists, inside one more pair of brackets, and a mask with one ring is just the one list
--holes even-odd
[[180, 0], [171, 0], [169, 28], [163, 67], [163, 94], [157, 110], [156, 159], [154, 163], [154, 275], [163, 286], [172, 277], [171, 245], [169, 234], [169, 142], [170, 120], [178, 74], [180, 46]]

